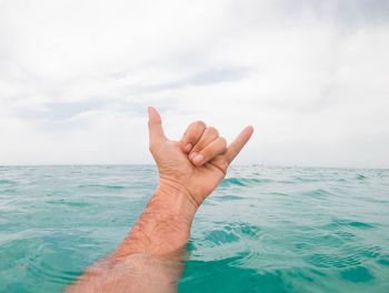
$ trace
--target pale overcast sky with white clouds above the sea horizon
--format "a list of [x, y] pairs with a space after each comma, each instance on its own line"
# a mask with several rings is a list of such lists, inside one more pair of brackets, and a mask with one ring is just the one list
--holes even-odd
[[237, 164], [389, 168], [387, 0], [0, 0], [0, 164], [152, 163], [147, 107]]

